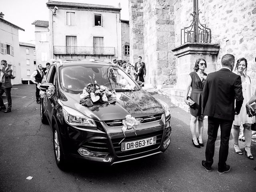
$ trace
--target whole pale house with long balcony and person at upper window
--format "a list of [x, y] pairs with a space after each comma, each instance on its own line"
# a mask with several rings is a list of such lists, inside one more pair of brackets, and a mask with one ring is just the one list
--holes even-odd
[[61, 60], [122, 58], [120, 10], [114, 6], [48, 1], [50, 56]]

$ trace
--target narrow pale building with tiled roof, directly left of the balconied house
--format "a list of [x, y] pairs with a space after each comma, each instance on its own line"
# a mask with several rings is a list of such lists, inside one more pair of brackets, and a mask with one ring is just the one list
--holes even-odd
[[50, 62], [50, 30], [49, 22], [36, 20], [32, 23], [35, 26], [35, 43], [36, 43], [36, 65], [41, 64], [46, 67], [46, 63]]

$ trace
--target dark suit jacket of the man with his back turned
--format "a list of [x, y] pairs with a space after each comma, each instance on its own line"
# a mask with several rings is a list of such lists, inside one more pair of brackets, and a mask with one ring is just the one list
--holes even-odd
[[[236, 100], [236, 108], [235, 108]], [[226, 68], [208, 74], [202, 95], [203, 114], [234, 120], [243, 104], [241, 77]]]

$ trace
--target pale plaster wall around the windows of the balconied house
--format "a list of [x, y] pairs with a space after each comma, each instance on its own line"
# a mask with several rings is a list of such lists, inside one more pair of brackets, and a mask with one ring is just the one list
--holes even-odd
[[[115, 55], [110, 58], [122, 58], [121, 22], [119, 12], [62, 9], [52, 16], [50, 10], [50, 28], [53, 23], [53, 46], [66, 46], [66, 36], [76, 36], [76, 46], [93, 47], [93, 37], [103, 37], [104, 47], [115, 47]], [[75, 25], [66, 25], [66, 12], [75, 12]], [[94, 26], [94, 14], [102, 14], [102, 27]], [[51, 18], [52, 21], [51, 22]]]

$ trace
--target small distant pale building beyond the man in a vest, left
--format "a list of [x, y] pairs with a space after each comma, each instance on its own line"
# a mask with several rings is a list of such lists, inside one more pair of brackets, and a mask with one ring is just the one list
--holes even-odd
[[22, 84], [30, 84], [30, 75], [36, 70], [36, 46], [20, 42], [20, 73]]

